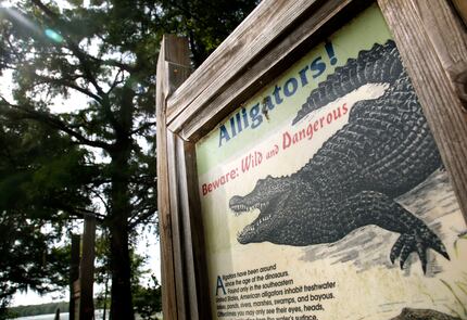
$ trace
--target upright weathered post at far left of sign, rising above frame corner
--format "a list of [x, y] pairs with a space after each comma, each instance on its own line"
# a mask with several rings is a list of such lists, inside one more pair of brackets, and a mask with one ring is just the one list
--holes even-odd
[[174, 244], [171, 218], [171, 194], [167, 165], [166, 100], [188, 77], [189, 50], [186, 39], [164, 36], [157, 61], [156, 121], [157, 121], [157, 212], [161, 236], [162, 305], [164, 318], [179, 319], [175, 278]]

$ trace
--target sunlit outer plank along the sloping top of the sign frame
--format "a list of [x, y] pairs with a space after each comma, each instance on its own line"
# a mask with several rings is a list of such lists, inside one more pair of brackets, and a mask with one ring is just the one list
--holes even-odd
[[194, 99], [209, 101], [232, 76], [242, 73], [251, 61], [262, 57], [265, 47], [279, 38], [291, 24], [323, 2], [325, 1], [262, 1], [174, 93], [168, 101], [167, 123], [171, 124]]

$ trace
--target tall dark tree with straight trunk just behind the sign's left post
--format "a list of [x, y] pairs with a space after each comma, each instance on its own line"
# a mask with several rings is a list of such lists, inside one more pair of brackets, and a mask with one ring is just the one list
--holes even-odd
[[[156, 213], [154, 90], [162, 35], [186, 35], [198, 65], [257, 1], [66, 2], [22, 0], [1, 11], [0, 71], [13, 71], [15, 88], [12, 99], [1, 97], [0, 114], [47, 126], [87, 157], [86, 165], [71, 161], [79, 170], [77, 181], [67, 181], [79, 182], [83, 199], [65, 205], [60, 192], [51, 194], [46, 216], [102, 216], [110, 234], [111, 317], [134, 319], [130, 238]], [[86, 102], [67, 100], [68, 112], [51, 111], [56, 98], [72, 93]]]

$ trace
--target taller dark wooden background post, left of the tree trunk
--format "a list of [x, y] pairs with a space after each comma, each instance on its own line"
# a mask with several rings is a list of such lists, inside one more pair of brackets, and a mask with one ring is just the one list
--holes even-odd
[[80, 302], [79, 320], [94, 318], [93, 284], [94, 284], [94, 251], [96, 251], [96, 217], [85, 217], [83, 233], [83, 258], [80, 264]]

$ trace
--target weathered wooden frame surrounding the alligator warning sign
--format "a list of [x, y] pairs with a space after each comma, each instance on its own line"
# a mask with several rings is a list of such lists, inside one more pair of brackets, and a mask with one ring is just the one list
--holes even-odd
[[[157, 190], [167, 319], [211, 319], [195, 143], [373, 1], [264, 0], [190, 76], [188, 44], [157, 66]], [[450, 0], [378, 0], [467, 214], [467, 36]], [[266, 30], [266, 31], [265, 31]]]

